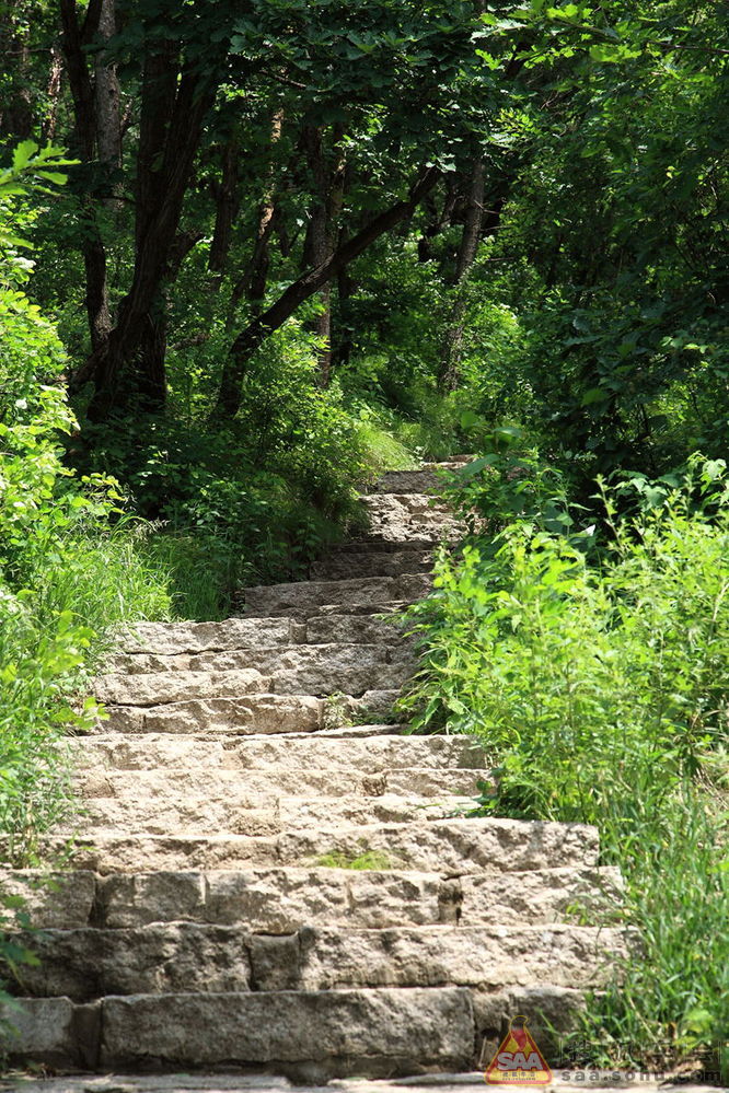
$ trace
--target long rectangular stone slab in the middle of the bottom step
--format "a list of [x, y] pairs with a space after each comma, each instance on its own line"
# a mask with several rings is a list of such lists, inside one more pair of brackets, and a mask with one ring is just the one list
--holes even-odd
[[107, 998], [106, 1067], [261, 1067], [309, 1080], [471, 1063], [467, 991], [357, 990]]

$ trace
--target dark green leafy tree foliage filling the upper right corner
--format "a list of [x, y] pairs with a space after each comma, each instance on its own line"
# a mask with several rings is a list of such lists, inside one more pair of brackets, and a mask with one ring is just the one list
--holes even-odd
[[506, 278], [524, 337], [507, 412], [586, 484], [656, 476], [727, 444], [727, 23], [683, 0], [567, 7], [501, 24], [566, 107], [525, 106], [494, 252], [529, 256]]

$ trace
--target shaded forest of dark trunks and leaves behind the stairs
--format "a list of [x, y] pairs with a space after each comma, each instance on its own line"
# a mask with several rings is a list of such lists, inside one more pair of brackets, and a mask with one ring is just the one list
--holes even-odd
[[66, 354], [34, 382], [67, 465], [215, 558], [188, 613], [497, 425], [578, 492], [724, 452], [721, 5], [21, 0], [0, 35], [8, 161], [78, 161], [13, 209]]

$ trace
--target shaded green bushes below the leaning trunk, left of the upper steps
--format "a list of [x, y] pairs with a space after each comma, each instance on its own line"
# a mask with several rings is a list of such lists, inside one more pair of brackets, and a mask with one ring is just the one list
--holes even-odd
[[[175, 611], [225, 618], [240, 608], [245, 584], [305, 575], [357, 519], [357, 487], [371, 475], [372, 456], [362, 419], [346, 409], [336, 385], [317, 383], [314, 345], [298, 324], [271, 337], [252, 363], [234, 421], [209, 422], [196, 388], [175, 397], [180, 418], [89, 426], [69, 455], [90, 475], [111, 470], [154, 521], [140, 550], [169, 569]], [[139, 437], [132, 447], [130, 429]]]

